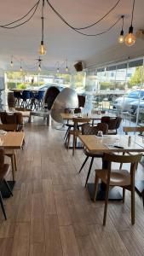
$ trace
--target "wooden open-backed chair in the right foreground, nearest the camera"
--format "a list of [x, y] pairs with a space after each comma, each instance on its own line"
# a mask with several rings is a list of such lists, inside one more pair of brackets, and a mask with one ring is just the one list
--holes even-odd
[[[107, 185], [103, 225], [106, 224], [107, 218], [107, 203], [110, 186], [118, 186], [123, 188], [123, 202], [125, 196], [125, 189], [131, 191], [131, 224], [135, 224], [135, 169], [137, 163], [141, 160], [142, 154], [135, 155], [116, 155], [105, 154], [103, 160], [107, 161], [107, 169], [95, 170], [95, 193], [94, 201], [97, 194], [99, 178]], [[114, 163], [130, 163], [130, 172], [128, 170], [112, 170], [112, 162]]]

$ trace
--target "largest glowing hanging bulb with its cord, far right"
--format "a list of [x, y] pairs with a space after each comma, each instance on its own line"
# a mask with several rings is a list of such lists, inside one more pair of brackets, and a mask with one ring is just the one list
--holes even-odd
[[128, 46], [135, 44], [135, 40], [136, 40], [136, 37], [133, 34], [133, 26], [132, 26], [133, 16], [134, 16], [134, 8], [135, 8], [135, 0], [133, 1], [132, 14], [131, 14], [131, 25], [129, 28], [129, 34], [125, 37], [125, 44]]

